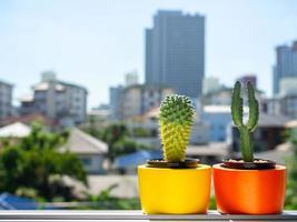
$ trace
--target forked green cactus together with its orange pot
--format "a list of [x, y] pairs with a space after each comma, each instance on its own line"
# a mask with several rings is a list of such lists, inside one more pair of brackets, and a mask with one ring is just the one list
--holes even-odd
[[225, 160], [212, 167], [217, 209], [228, 214], [281, 213], [286, 192], [286, 168], [270, 160], [254, 159], [251, 132], [255, 131], [259, 105], [255, 90], [247, 83], [249, 117], [244, 123], [241, 84], [236, 82], [231, 115], [240, 135], [242, 159]]

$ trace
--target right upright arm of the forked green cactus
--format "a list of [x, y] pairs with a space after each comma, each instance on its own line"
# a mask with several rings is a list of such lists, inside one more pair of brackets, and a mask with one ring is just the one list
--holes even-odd
[[248, 107], [249, 107], [247, 128], [250, 132], [253, 132], [258, 124], [259, 103], [255, 97], [255, 90], [250, 82], [247, 83], [247, 89], [248, 89]]

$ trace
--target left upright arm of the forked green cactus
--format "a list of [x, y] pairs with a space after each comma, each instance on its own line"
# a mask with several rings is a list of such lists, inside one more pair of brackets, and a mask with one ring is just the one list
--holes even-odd
[[244, 113], [244, 100], [240, 97], [241, 85], [237, 81], [234, 87], [232, 98], [231, 98], [231, 115], [235, 125], [241, 127], [242, 123], [242, 113]]

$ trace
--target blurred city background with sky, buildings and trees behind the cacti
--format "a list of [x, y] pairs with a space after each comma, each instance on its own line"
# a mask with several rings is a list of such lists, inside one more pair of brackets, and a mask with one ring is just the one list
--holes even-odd
[[297, 209], [296, 11], [294, 0], [0, 0], [0, 209], [140, 209], [137, 165], [162, 155], [171, 93], [196, 108], [188, 157], [237, 157], [236, 80], [257, 89], [256, 157], [289, 168]]

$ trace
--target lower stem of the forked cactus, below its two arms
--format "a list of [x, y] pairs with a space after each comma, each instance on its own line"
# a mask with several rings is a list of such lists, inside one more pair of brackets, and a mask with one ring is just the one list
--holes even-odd
[[254, 161], [254, 151], [250, 133], [247, 127], [239, 128], [240, 150], [245, 162]]

